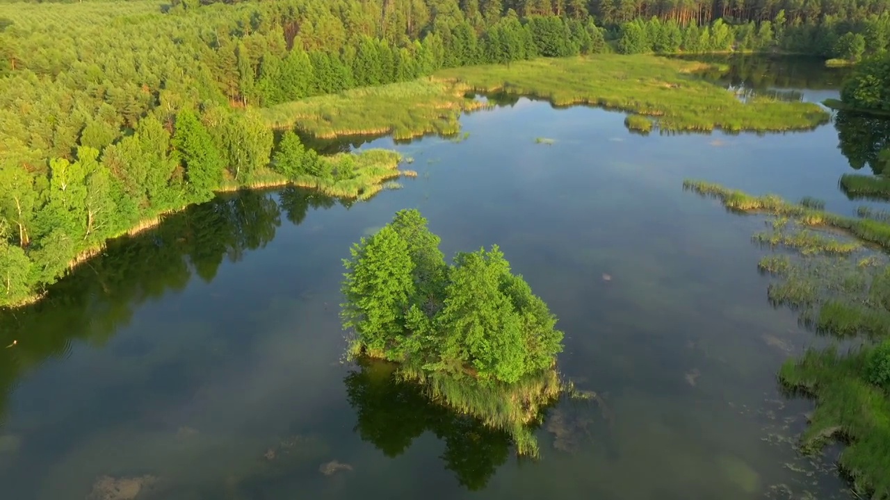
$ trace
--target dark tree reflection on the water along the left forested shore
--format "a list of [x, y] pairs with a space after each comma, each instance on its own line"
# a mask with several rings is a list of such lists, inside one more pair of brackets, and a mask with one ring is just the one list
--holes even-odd
[[44, 300], [0, 311], [0, 425], [28, 372], [67, 358], [72, 344], [108, 343], [142, 304], [182, 290], [193, 275], [212, 281], [224, 260], [238, 262], [270, 243], [282, 215], [299, 224], [310, 210], [337, 204], [352, 201], [297, 188], [220, 195], [166, 216], [155, 229], [109, 241], [100, 257], [51, 286]]

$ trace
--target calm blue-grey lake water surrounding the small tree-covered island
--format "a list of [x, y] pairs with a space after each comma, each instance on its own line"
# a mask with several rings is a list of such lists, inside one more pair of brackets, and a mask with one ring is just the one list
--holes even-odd
[[[821, 101], [839, 81], [818, 62], [748, 60], [726, 83]], [[837, 450], [794, 448], [813, 404], [783, 397], [775, 373], [821, 341], [767, 302], [750, 242], [764, 218], [682, 181], [852, 214], [862, 201], [837, 179], [870, 172], [884, 125], [640, 136], [621, 113], [513, 101], [464, 117], [465, 141], [362, 145], [414, 158], [402, 190], [224, 196], [0, 316], [0, 497], [849, 497]], [[406, 207], [447, 255], [501, 246], [559, 317], [561, 371], [601, 404], [551, 408], [538, 461], [341, 363], [341, 259]]]

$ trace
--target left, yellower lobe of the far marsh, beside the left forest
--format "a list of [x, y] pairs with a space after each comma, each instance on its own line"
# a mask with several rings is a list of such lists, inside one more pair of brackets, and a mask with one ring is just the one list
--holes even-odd
[[461, 138], [461, 113], [490, 106], [466, 98], [466, 90], [422, 78], [285, 102], [260, 112], [272, 128], [297, 127], [322, 139], [392, 134], [395, 140], [408, 140], [428, 133]]

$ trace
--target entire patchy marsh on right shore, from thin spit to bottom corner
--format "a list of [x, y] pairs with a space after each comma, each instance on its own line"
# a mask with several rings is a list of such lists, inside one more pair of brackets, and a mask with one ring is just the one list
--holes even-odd
[[797, 310], [816, 333], [856, 345], [810, 349], [782, 365], [783, 386], [818, 401], [804, 449], [844, 440], [839, 465], [857, 494], [890, 498], [890, 218], [870, 209], [843, 217], [812, 198], [791, 203], [702, 181], [685, 181], [684, 189], [737, 213], [773, 215], [770, 232], [755, 240], [791, 252], [767, 254], [758, 264], [774, 278], [770, 301]]

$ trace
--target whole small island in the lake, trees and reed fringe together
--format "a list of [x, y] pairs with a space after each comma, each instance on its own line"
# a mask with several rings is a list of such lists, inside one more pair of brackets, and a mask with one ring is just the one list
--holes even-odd
[[543, 410], [569, 389], [556, 373], [561, 331], [498, 246], [445, 262], [417, 210], [401, 210], [344, 261], [350, 359], [381, 359], [436, 403], [507, 431], [520, 455]]

